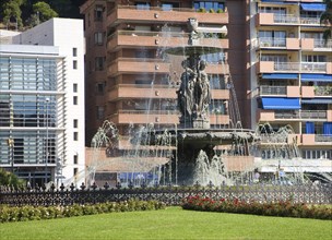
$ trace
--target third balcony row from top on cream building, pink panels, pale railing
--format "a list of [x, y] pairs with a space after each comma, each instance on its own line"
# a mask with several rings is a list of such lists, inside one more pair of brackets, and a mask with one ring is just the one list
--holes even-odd
[[332, 62], [274, 62], [260, 61], [257, 73], [327, 73], [332, 74]]

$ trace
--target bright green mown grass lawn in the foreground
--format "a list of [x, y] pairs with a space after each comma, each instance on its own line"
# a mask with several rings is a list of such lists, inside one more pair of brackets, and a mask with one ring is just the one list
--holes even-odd
[[0, 239], [331, 239], [332, 221], [182, 211], [0, 224]]

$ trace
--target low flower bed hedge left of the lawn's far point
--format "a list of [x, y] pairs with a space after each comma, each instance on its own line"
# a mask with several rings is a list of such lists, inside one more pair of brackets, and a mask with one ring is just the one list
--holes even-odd
[[21, 206], [0, 205], [0, 223], [40, 220], [62, 217], [73, 217], [112, 212], [164, 209], [165, 204], [157, 201], [129, 200], [123, 202], [107, 202], [94, 205], [71, 206]]

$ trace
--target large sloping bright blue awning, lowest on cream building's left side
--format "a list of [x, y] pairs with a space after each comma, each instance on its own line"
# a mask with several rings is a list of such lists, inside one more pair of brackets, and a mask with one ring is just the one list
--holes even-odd
[[263, 109], [300, 109], [299, 98], [262, 97]]

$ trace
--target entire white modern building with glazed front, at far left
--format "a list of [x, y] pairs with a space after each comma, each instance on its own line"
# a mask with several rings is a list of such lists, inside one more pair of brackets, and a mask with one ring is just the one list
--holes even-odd
[[83, 21], [2, 33], [0, 167], [32, 185], [74, 182], [85, 169]]

